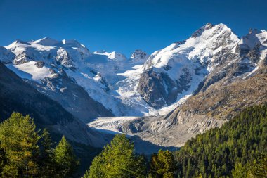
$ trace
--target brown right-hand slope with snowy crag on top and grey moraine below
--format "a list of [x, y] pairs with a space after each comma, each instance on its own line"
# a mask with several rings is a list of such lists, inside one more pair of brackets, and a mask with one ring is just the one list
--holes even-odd
[[164, 146], [183, 146], [186, 139], [220, 127], [242, 108], [266, 103], [266, 39], [265, 30], [250, 30], [233, 49], [216, 53], [211, 58], [216, 65], [193, 95], [153, 122], [144, 118], [137, 134]]

